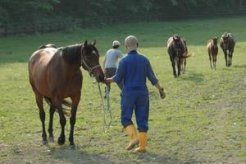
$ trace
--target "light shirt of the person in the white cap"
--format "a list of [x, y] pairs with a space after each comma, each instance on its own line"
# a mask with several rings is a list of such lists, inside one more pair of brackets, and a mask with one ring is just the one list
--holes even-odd
[[123, 57], [119, 49], [109, 49], [105, 55], [104, 68], [117, 68], [118, 60]]

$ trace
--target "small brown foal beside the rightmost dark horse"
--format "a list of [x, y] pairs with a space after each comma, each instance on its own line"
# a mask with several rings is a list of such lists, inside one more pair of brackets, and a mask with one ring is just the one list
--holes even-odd
[[216, 69], [216, 61], [218, 55], [218, 38], [212, 38], [208, 40], [207, 49], [208, 49], [208, 56], [210, 61], [210, 68]]

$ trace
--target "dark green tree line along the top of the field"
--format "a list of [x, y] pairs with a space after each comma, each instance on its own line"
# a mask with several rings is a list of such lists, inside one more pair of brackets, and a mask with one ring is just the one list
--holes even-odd
[[0, 0], [0, 25], [74, 19], [87, 24], [237, 12], [245, 0]]

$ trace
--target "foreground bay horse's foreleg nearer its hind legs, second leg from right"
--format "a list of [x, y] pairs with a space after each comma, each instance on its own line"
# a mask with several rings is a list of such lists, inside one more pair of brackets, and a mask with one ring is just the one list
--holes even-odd
[[61, 124], [61, 133], [58, 138], [58, 144], [63, 145], [65, 143], [65, 125], [66, 125], [66, 118], [64, 116], [62, 110], [61, 101], [55, 101], [55, 107], [58, 109], [59, 117], [60, 117], [60, 124]]

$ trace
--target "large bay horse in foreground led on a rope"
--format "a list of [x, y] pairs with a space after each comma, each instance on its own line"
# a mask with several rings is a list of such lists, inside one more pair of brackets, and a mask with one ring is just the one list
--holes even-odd
[[43, 99], [50, 101], [49, 139], [54, 141], [53, 116], [57, 110], [60, 118], [61, 132], [58, 144], [65, 143], [64, 128], [66, 118], [62, 105], [65, 98], [71, 98], [70, 146], [74, 147], [74, 125], [77, 106], [80, 101], [83, 76], [82, 66], [98, 82], [104, 82], [104, 74], [99, 64], [99, 52], [96, 42], [71, 45], [63, 48], [44, 46], [35, 51], [28, 62], [29, 82], [35, 94], [42, 122], [42, 143], [47, 144], [45, 130], [45, 111]]

